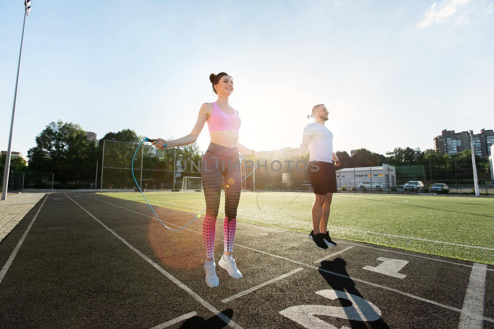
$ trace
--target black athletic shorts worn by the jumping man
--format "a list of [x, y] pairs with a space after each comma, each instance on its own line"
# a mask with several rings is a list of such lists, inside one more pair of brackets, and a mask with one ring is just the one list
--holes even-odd
[[336, 171], [332, 162], [309, 161], [307, 174], [314, 193], [322, 195], [336, 193]]

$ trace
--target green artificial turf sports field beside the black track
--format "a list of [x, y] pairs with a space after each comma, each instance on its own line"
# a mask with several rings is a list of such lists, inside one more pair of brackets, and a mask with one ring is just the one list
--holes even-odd
[[[139, 192], [101, 194], [146, 203]], [[145, 194], [152, 205], [160, 207], [202, 215], [206, 209], [202, 192]], [[243, 192], [237, 220], [309, 233], [314, 195], [299, 194]], [[152, 216], [151, 209], [149, 213]], [[193, 218], [191, 215], [190, 219]], [[224, 195], [218, 218], [224, 218]], [[190, 219], [184, 219], [183, 224]], [[335, 193], [329, 234], [334, 238], [494, 265], [494, 199]]]

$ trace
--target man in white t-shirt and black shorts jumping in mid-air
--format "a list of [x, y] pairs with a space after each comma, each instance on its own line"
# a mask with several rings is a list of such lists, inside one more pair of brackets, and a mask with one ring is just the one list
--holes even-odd
[[341, 163], [333, 152], [333, 134], [325, 126], [325, 122], [328, 121], [328, 109], [324, 104], [318, 104], [312, 108], [312, 114], [316, 120], [305, 126], [302, 144], [293, 154], [299, 155], [309, 148], [307, 173], [316, 196], [312, 205], [313, 230], [309, 239], [317, 248], [328, 249], [328, 246], [336, 246], [329, 236], [328, 220], [331, 200], [336, 192], [334, 166], [339, 167]]

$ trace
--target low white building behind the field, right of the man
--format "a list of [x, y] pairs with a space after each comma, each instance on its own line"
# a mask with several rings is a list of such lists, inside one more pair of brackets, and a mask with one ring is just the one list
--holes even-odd
[[396, 169], [393, 166], [383, 164], [379, 167], [343, 168], [336, 171], [336, 183], [338, 188], [346, 186], [347, 189], [360, 183], [370, 182], [379, 185], [380, 188], [396, 187]]

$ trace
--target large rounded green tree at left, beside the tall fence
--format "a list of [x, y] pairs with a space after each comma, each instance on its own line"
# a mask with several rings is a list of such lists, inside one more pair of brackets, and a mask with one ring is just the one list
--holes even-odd
[[50, 122], [28, 150], [29, 170], [54, 173], [61, 183], [89, 180], [96, 165], [96, 145], [72, 122]]

